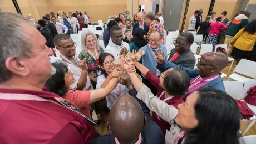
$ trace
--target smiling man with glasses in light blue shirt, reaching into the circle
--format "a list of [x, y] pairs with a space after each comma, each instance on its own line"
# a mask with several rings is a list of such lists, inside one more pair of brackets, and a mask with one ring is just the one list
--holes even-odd
[[[147, 69], [151, 70], [156, 76], [160, 75], [160, 71], [156, 69], [156, 55], [155, 53], [159, 53], [163, 55], [163, 57], [167, 58], [167, 49], [164, 45], [161, 44], [161, 39], [163, 35], [158, 31], [153, 31], [149, 36], [149, 44], [142, 47], [136, 54], [135, 58], [137, 61], [142, 57], [142, 65], [144, 65]], [[151, 89], [151, 92], [156, 95], [157, 89], [152, 86], [148, 80], [145, 79], [145, 75], [142, 75], [142, 80], [147, 87]]]

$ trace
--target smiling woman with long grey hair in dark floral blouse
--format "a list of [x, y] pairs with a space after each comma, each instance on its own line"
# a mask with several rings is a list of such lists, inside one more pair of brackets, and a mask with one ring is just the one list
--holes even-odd
[[82, 52], [78, 57], [81, 60], [86, 58], [89, 78], [91, 79], [92, 86], [95, 88], [97, 77], [101, 75], [98, 58], [101, 53], [104, 53], [104, 49], [99, 45], [96, 35], [91, 30], [82, 33], [81, 48]]

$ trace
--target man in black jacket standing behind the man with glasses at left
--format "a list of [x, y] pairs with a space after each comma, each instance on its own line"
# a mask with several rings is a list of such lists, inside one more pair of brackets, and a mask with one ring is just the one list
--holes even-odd
[[49, 48], [55, 48], [51, 29], [46, 28], [46, 24], [43, 20], [38, 20], [38, 27], [40, 28], [40, 33], [46, 39], [46, 45]]

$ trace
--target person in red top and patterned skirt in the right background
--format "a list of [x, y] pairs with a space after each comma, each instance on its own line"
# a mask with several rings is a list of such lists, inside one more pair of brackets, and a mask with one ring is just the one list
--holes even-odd
[[227, 26], [220, 22], [221, 18], [218, 17], [215, 23], [211, 23], [210, 32], [206, 39], [206, 44], [213, 44], [213, 52], [215, 50], [215, 45], [218, 43], [220, 32], [227, 29]]

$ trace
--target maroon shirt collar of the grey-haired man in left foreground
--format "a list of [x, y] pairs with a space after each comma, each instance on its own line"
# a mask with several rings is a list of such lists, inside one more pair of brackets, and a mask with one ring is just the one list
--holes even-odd
[[50, 93], [46, 87], [43, 87], [43, 91], [36, 90], [22, 90], [22, 89], [0, 89], [0, 93], [8, 93], [8, 94], [31, 94], [37, 95], [40, 97], [52, 98], [52, 97], [60, 97], [54, 93]]

